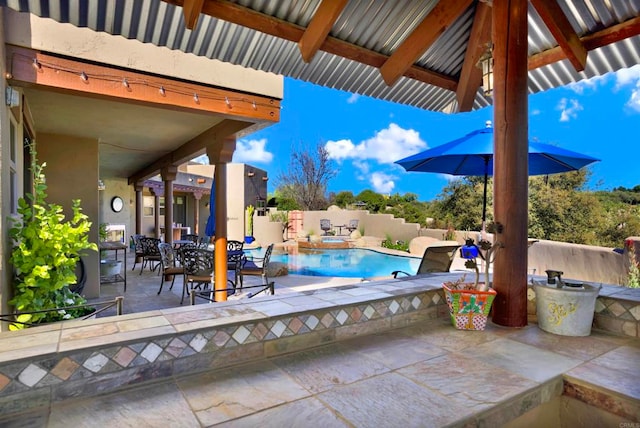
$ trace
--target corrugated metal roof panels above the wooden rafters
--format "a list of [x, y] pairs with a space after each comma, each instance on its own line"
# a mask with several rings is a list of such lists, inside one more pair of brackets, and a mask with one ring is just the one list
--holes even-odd
[[[320, 0], [236, 0], [233, 3], [306, 27]], [[390, 55], [437, 3], [437, 0], [351, 0], [330, 35]], [[640, 0], [559, 3], [579, 36], [640, 16]], [[200, 15], [193, 31], [187, 30], [182, 9], [161, 0], [0, 0], [0, 5], [78, 27], [428, 110], [450, 111], [456, 105], [455, 94], [451, 91], [406, 77], [389, 87], [377, 68], [326, 52], [319, 52], [306, 64], [294, 42], [207, 15]], [[475, 3], [416, 64], [457, 77], [474, 11]], [[529, 5], [529, 55], [556, 45], [538, 13]], [[640, 36], [589, 52], [586, 69], [581, 73], [576, 72], [567, 60], [530, 71], [529, 92], [566, 85], [638, 63]], [[479, 90], [474, 108], [490, 103], [491, 100]]]

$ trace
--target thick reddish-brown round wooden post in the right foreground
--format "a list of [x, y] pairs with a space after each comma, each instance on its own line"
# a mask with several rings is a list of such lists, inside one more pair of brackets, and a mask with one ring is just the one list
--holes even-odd
[[494, 218], [493, 322], [527, 325], [528, 100], [527, 0], [493, 2]]

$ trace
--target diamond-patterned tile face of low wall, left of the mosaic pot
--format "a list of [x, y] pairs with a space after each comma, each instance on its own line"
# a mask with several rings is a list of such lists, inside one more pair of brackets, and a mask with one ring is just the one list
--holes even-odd
[[432, 290], [4, 363], [0, 414], [398, 328], [446, 311], [441, 290]]

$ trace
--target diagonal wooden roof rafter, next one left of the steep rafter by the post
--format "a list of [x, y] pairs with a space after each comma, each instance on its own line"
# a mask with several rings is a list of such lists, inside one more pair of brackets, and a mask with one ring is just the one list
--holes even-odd
[[471, 3], [472, 0], [439, 1], [380, 68], [385, 83], [393, 85]]

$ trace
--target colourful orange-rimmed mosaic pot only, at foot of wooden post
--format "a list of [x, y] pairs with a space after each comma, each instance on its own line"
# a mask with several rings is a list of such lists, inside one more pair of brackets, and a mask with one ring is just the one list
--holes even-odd
[[487, 317], [491, 310], [491, 304], [496, 297], [496, 290], [490, 288], [487, 291], [478, 290], [452, 290], [446, 285], [442, 286], [451, 323], [458, 330], [484, 330], [487, 326]]

